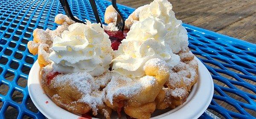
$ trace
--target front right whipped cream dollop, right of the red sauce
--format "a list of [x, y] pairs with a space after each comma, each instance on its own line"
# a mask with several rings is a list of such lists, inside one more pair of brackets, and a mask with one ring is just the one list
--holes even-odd
[[170, 46], [166, 44], [167, 33], [164, 21], [156, 17], [134, 23], [115, 52], [112, 60], [113, 71], [130, 78], [143, 77], [143, 66], [152, 58], [163, 59], [173, 68], [180, 62], [180, 57], [173, 54]]

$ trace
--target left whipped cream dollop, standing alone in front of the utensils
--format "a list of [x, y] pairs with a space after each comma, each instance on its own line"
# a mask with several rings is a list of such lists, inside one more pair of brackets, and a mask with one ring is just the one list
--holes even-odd
[[100, 24], [74, 23], [61, 37], [55, 37], [49, 58], [52, 67], [60, 73], [87, 71], [99, 76], [108, 70], [113, 50]]

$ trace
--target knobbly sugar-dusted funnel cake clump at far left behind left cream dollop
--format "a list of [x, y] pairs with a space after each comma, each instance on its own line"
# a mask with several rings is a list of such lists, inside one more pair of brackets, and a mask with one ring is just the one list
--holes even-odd
[[47, 28], [45, 31], [36, 28], [33, 31], [33, 41], [29, 41], [27, 44], [30, 53], [34, 55], [38, 54], [38, 63], [40, 67], [51, 64], [51, 61], [49, 60], [49, 53], [51, 53], [51, 50], [49, 48], [52, 47], [53, 39], [56, 36], [61, 36], [61, 33], [64, 30], [67, 30], [69, 25], [75, 23], [64, 14], [57, 14], [54, 22], [60, 26], [55, 30], [49, 30]]

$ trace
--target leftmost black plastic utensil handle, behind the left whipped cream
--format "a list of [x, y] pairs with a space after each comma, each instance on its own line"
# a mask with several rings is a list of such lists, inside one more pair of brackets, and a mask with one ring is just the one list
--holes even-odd
[[[67, 17], [69, 17], [71, 20], [73, 20], [73, 21], [75, 21], [77, 23], [84, 23], [83, 21], [78, 20], [78, 19], [76, 19], [76, 17], [73, 16], [67, 0], [60, 0], [60, 3], [61, 3], [61, 6], [63, 7]], [[86, 24], [86, 23], [84, 23], [84, 24]]]

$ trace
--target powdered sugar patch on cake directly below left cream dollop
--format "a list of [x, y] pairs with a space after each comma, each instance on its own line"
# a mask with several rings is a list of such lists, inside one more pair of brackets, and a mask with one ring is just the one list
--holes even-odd
[[93, 110], [93, 113], [97, 113], [97, 106], [103, 105], [103, 99], [105, 97], [105, 92], [100, 91], [100, 87], [105, 87], [105, 85], [110, 81], [110, 72], [106, 72], [99, 77], [92, 77], [87, 72], [76, 72], [70, 74], [59, 74], [52, 80], [53, 86], [55, 88], [64, 86], [65, 84], [70, 85], [82, 94], [81, 99], [77, 102], [84, 102]]

